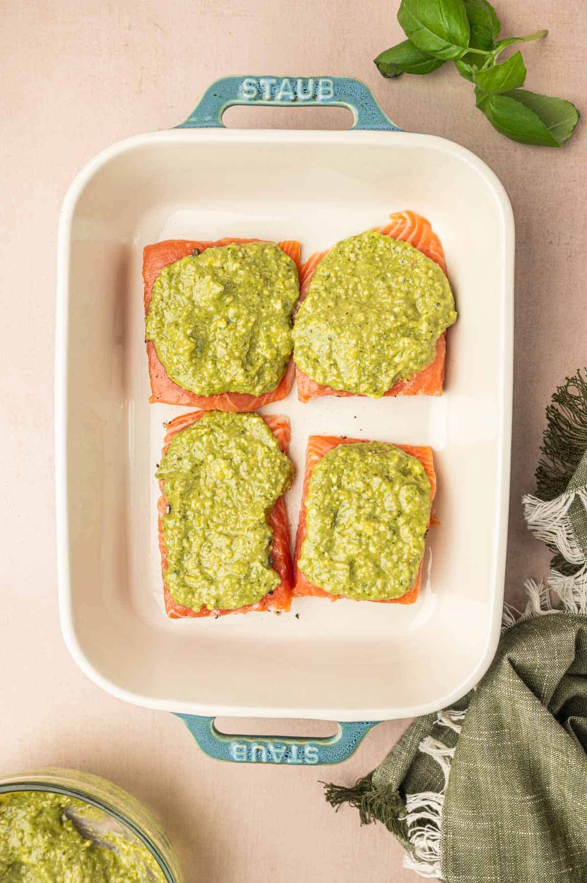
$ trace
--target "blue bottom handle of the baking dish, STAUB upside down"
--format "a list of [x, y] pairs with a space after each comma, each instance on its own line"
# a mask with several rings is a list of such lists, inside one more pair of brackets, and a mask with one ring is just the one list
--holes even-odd
[[335, 736], [285, 738], [284, 736], [229, 736], [214, 726], [213, 717], [177, 714], [208, 757], [244, 764], [324, 766], [350, 758], [372, 727], [380, 721], [339, 723]]

